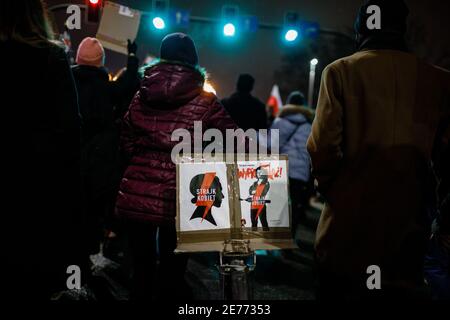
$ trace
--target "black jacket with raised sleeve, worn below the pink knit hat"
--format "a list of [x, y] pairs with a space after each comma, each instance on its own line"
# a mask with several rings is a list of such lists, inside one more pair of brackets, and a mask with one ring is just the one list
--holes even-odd
[[105, 68], [72, 68], [78, 90], [82, 126], [82, 172], [91, 199], [117, 190], [120, 180], [119, 127], [115, 123], [122, 99], [136, 93], [137, 58], [128, 58], [120, 81], [110, 81]]

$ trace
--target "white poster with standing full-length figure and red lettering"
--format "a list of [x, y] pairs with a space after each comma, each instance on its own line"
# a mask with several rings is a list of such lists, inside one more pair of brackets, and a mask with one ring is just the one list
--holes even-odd
[[286, 160], [238, 162], [242, 225], [246, 228], [289, 228]]

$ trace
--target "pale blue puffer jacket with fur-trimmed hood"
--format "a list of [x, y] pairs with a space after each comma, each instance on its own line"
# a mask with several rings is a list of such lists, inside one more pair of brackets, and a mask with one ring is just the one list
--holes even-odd
[[280, 154], [289, 156], [289, 177], [303, 182], [310, 178], [310, 158], [306, 142], [311, 134], [314, 111], [303, 106], [287, 105], [272, 124], [279, 130]]

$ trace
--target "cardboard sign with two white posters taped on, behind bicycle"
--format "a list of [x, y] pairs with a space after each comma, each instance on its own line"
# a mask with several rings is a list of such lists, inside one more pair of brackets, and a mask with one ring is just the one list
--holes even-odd
[[177, 165], [177, 251], [221, 251], [225, 240], [252, 249], [295, 248], [290, 226], [287, 156], [227, 164]]

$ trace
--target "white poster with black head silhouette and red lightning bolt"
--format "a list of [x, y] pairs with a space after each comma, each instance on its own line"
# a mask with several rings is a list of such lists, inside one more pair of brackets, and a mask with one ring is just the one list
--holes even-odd
[[226, 164], [184, 163], [179, 170], [180, 231], [229, 229]]

